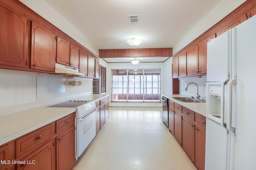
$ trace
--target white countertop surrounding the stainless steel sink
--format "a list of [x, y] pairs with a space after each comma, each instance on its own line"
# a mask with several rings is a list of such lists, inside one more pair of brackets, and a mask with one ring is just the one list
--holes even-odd
[[180, 94], [163, 94], [162, 96], [206, 117], [206, 103], [181, 102], [173, 98], [173, 97], [188, 97]]

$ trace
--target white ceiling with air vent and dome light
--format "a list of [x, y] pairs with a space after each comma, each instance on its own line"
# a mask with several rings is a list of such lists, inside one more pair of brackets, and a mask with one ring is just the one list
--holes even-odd
[[[169, 48], [220, 0], [46, 0], [98, 49]], [[128, 15], [140, 14], [140, 25]], [[143, 42], [132, 47], [127, 39]]]

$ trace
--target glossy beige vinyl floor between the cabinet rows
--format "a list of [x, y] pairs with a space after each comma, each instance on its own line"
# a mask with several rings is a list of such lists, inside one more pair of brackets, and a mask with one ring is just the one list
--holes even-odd
[[196, 170], [159, 107], [109, 107], [109, 120], [73, 170]]

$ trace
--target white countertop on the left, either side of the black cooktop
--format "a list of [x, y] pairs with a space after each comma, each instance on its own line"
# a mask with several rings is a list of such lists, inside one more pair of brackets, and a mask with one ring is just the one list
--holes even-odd
[[[86, 100], [101, 100], [107, 94], [83, 96]], [[61, 102], [58, 102], [61, 103]], [[50, 106], [52, 104], [46, 105]], [[36, 107], [0, 116], [0, 145], [12, 141], [26, 133], [34, 131], [44, 125], [54, 122], [76, 111], [75, 107]]]

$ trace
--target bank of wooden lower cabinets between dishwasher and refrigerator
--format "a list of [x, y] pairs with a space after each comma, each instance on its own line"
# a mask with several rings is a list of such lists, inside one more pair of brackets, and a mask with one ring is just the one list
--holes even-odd
[[174, 107], [169, 106], [168, 109], [169, 131], [174, 131], [174, 137], [196, 167], [204, 170], [206, 117], [176, 102]]

